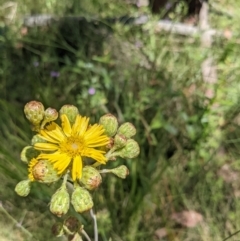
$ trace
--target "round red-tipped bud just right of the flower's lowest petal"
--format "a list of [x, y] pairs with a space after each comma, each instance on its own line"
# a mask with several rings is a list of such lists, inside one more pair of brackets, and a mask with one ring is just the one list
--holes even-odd
[[96, 189], [102, 182], [102, 177], [97, 169], [91, 166], [85, 166], [80, 179], [84, 187], [88, 190]]

